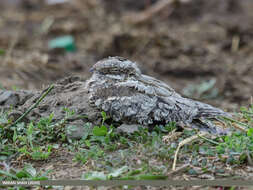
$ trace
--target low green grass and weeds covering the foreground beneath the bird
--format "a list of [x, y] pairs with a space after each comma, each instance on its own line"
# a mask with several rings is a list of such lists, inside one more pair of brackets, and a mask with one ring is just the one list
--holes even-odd
[[[64, 109], [66, 116], [57, 123], [54, 115], [41, 118], [28, 124], [8, 119], [8, 112], [0, 113], [0, 162], [8, 162], [12, 157], [36, 163], [50, 162], [59, 148], [73, 153], [75, 163], [86, 165], [82, 179], [166, 179], [171, 171], [175, 150], [178, 144], [197, 131], [184, 129], [169, 141], [165, 137], [176, 129], [175, 123], [155, 126], [152, 131], [140, 128], [133, 134], [118, 134], [113, 125], [108, 126], [108, 117], [102, 112], [100, 126], [85, 125], [85, 134], [80, 140], [68, 140], [66, 126], [68, 118], [75, 115]], [[208, 136], [184, 145], [179, 152], [177, 166], [189, 164], [183, 173], [190, 176], [212, 174], [226, 176], [226, 166], [232, 168], [252, 164], [253, 156], [253, 106], [241, 108], [234, 120], [224, 120], [227, 126], [234, 123], [248, 128], [248, 132], [233, 131], [223, 137]], [[215, 160], [215, 161], [214, 161]], [[30, 170], [33, 166], [29, 166]], [[27, 166], [21, 170], [0, 168], [0, 180], [35, 179], [43, 174], [19, 175], [27, 173]], [[22, 173], [22, 172], [21, 172]], [[44, 178], [43, 178], [44, 179]]]

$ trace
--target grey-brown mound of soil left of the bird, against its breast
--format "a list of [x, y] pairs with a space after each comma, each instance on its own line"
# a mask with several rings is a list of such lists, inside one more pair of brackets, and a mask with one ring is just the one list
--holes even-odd
[[[2, 91], [0, 90], [0, 105], [3, 108], [14, 107], [10, 116], [14, 119], [20, 117], [42, 96], [43, 91]], [[38, 104], [27, 116], [26, 121], [39, 120], [54, 114], [54, 121], [64, 119], [66, 113], [63, 108], [75, 111], [74, 117], [83, 117], [84, 120], [90, 120], [98, 123], [101, 116], [100, 110], [90, 107], [88, 89], [85, 82], [79, 77], [68, 77], [54, 84], [54, 88], [43, 101]], [[76, 118], [72, 120], [76, 120]]]

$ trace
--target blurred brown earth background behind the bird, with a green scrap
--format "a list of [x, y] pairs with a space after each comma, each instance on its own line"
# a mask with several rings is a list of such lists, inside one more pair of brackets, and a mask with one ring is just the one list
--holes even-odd
[[0, 88], [90, 77], [107, 56], [184, 96], [228, 110], [252, 103], [252, 0], [1, 0]]

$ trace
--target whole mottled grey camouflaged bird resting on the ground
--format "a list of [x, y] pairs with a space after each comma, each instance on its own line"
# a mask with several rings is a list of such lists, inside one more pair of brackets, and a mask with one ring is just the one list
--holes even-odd
[[87, 81], [89, 103], [114, 121], [145, 126], [171, 121], [211, 133], [226, 133], [210, 122], [228, 114], [211, 105], [187, 99], [170, 86], [144, 75], [136, 63], [122, 57], [98, 61]]

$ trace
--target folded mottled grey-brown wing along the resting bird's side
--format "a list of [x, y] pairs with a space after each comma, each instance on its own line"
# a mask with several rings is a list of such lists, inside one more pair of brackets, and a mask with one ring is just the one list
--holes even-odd
[[195, 119], [215, 118], [225, 113], [208, 104], [167, 93], [165, 88], [127, 80], [97, 87], [92, 92], [95, 97], [92, 101], [115, 121], [143, 125], [170, 121], [190, 124]]

